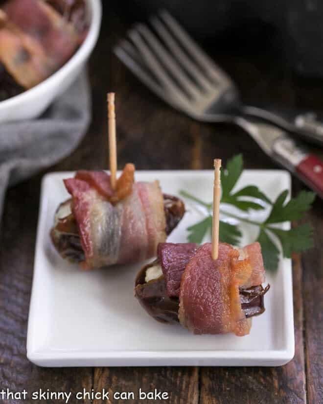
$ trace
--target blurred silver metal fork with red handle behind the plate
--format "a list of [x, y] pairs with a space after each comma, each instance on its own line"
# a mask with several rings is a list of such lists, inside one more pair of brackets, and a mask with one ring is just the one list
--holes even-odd
[[115, 47], [121, 61], [152, 91], [190, 117], [243, 128], [265, 153], [323, 198], [323, 161], [278, 126], [243, 117], [237, 111], [237, 92], [230, 77], [166, 11], [152, 18], [151, 24], [158, 35], [138, 24], [129, 31], [128, 40]]

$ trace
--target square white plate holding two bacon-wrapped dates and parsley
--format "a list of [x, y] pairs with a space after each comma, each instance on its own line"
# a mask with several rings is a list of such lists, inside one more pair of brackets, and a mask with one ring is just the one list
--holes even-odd
[[[266, 311], [253, 319], [247, 336], [193, 335], [180, 325], [160, 324], [134, 298], [134, 280], [143, 263], [80, 272], [52, 247], [49, 230], [54, 212], [68, 197], [62, 179], [72, 175], [47, 174], [42, 183], [29, 360], [41, 366], [277, 366], [293, 358], [291, 260], [281, 259], [277, 273], [268, 274]], [[183, 189], [212, 200], [213, 171], [137, 171], [136, 179], [159, 179], [165, 193], [178, 195]], [[258, 185], [274, 199], [281, 190], [290, 190], [291, 181], [286, 171], [246, 170], [238, 187], [247, 184]], [[168, 241], [185, 242], [186, 228], [202, 219], [188, 201], [186, 207], [189, 211]], [[289, 228], [289, 223], [284, 225]], [[254, 241], [255, 232], [244, 225], [242, 243]]]

